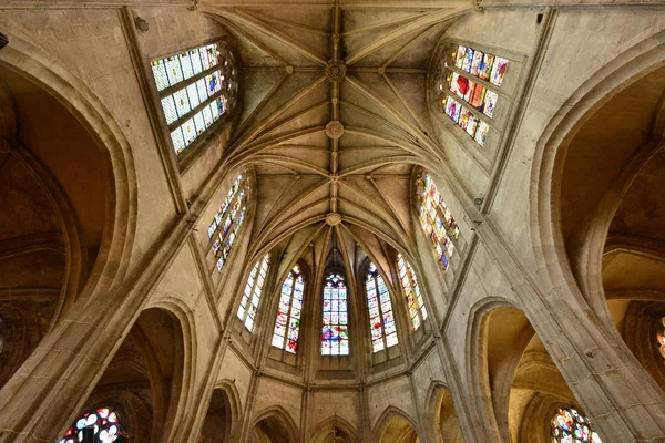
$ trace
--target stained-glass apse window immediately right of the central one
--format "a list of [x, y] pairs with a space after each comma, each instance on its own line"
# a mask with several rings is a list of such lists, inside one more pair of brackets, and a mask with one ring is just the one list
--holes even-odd
[[369, 307], [369, 328], [374, 352], [397, 344], [397, 327], [392, 316], [390, 292], [375, 264], [370, 264], [365, 279], [367, 305]]

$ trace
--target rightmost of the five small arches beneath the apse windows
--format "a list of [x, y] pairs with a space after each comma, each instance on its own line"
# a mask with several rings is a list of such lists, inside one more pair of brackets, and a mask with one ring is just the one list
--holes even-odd
[[424, 433], [430, 441], [462, 442], [452, 394], [441, 381], [432, 381], [424, 400]]

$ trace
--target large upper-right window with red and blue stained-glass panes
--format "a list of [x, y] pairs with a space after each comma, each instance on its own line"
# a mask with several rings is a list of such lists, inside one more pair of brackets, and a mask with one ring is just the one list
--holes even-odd
[[440, 109], [484, 146], [509, 61], [461, 44], [443, 56], [438, 84]]

